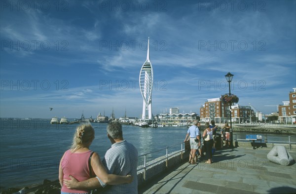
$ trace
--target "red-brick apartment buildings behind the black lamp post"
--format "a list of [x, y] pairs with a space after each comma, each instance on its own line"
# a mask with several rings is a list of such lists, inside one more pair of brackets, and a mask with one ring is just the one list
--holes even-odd
[[[252, 122], [254, 111], [250, 106], [231, 106], [231, 120], [233, 123]], [[224, 104], [220, 98], [211, 98], [200, 107], [200, 121], [210, 122], [215, 120], [216, 123], [230, 122], [229, 105]]]

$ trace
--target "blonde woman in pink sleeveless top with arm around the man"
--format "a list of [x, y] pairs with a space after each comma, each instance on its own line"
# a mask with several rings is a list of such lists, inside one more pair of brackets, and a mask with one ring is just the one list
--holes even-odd
[[[59, 180], [62, 187], [61, 194], [88, 194], [87, 190], [68, 189], [63, 184], [63, 181], [66, 179], [70, 180], [70, 175], [79, 181], [91, 178], [88, 161], [92, 151], [89, 150], [89, 146], [94, 139], [95, 131], [91, 124], [82, 124], [76, 128], [72, 147], [65, 152], [60, 162]], [[117, 185], [133, 181], [133, 177], [130, 175], [118, 176], [108, 174], [97, 153], [94, 153], [91, 157], [91, 166], [91, 174], [96, 174], [105, 184]]]

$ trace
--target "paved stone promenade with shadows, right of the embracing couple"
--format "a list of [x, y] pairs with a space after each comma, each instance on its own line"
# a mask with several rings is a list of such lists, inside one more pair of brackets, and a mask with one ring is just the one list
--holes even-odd
[[[139, 194], [295, 194], [296, 163], [269, 162], [271, 149], [238, 147], [215, 152], [214, 163], [184, 163], [153, 179]], [[296, 159], [296, 152], [289, 151]]]

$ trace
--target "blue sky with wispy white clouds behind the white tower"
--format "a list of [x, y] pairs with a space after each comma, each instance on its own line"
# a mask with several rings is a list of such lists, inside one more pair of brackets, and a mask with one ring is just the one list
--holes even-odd
[[199, 115], [228, 72], [263, 114], [296, 87], [295, 0], [0, 3], [0, 117], [141, 117], [148, 37], [153, 115]]

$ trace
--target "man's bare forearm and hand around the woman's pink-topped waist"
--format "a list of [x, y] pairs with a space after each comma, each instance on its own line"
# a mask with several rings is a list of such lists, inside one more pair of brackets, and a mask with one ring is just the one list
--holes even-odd
[[94, 177], [91, 179], [87, 179], [85, 181], [79, 182], [77, 179], [75, 179], [73, 176], [69, 176], [71, 180], [64, 179], [64, 184], [68, 189], [94, 189], [101, 187], [101, 184], [99, 180]]

